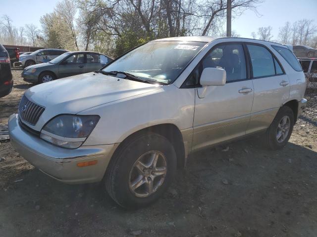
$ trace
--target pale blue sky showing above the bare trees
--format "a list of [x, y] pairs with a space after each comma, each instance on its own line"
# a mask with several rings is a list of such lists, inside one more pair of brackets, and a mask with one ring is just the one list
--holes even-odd
[[[52, 12], [58, 0], [0, 0], [0, 16], [7, 14], [16, 27], [33, 23], [40, 27], [40, 17]], [[232, 21], [232, 30], [241, 37], [251, 38], [259, 27], [272, 26], [273, 39], [286, 21], [307, 18], [317, 25], [317, 0], [265, 0], [257, 7], [258, 13], [246, 10]], [[19, 13], [19, 14], [17, 14]]]

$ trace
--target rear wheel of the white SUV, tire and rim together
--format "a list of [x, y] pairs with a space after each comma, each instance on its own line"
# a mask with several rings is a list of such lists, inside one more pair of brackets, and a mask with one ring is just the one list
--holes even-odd
[[[284, 122], [288, 125], [283, 125]], [[264, 134], [265, 146], [270, 150], [280, 150], [285, 147], [291, 137], [293, 126], [294, 113], [292, 109], [288, 106], [281, 107]], [[287, 127], [288, 129], [286, 129]], [[283, 133], [284, 135], [282, 135]]]

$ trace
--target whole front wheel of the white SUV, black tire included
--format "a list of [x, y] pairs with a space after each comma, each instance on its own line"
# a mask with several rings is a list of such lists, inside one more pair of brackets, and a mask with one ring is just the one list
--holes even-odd
[[[104, 177], [109, 196], [126, 209], [145, 207], [161, 197], [176, 172], [176, 153], [172, 144], [159, 134], [148, 133], [133, 136], [118, 149], [111, 158]], [[152, 167], [150, 165], [154, 157], [158, 157], [158, 161]], [[145, 168], [138, 161], [148, 167]], [[159, 172], [164, 173], [164, 165], [165, 174], [154, 177]], [[152, 193], [149, 188], [151, 182]], [[140, 186], [137, 187], [138, 185]]]

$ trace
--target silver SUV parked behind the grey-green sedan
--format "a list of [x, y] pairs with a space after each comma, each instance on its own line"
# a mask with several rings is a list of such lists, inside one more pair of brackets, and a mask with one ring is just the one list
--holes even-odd
[[46, 63], [65, 52], [68, 51], [54, 48], [39, 49], [30, 54], [20, 55], [19, 65], [22, 67], [28, 67], [38, 63]]

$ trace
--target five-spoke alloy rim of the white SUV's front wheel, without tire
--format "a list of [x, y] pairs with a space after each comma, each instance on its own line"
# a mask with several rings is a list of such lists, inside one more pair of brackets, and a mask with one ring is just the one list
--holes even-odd
[[129, 188], [136, 197], [149, 197], [163, 184], [167, 171], [166, 158], [159, 151], [139, 157], [129, 175]]

